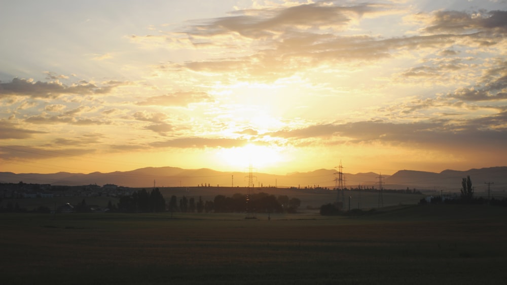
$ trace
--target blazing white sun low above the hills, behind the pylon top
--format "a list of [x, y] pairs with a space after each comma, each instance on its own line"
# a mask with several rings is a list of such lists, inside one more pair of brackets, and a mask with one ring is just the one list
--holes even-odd
[[258, 170], [272, 168], [282, 161], [281, 150], [277, 147], [253, 143], [242, 147], [220, 149], [217, 154], [225, 167], [238, 171], [243, 171], [250, 165]]

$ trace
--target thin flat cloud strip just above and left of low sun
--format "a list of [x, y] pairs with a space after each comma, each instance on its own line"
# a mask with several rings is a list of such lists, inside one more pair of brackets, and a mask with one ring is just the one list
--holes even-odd
[[175, 147], [175, 148], [206, 148], [206, 147], [240, 147], [248, 143], [247, 140], [242, 139], [227, 139], [227, 138], [178, 138], [166, 141], [159, 141], [151, 143], [152, 147]]

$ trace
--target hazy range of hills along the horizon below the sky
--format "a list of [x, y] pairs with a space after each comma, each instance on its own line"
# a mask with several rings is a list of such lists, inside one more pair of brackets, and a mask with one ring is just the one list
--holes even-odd
[[[253, 173], [256, 186], [277, 187], [335, 187], [336, 170], [319, 169], [311, 172], [297, 172], [287, 175]], [[484, 188], [485, 182], [494, 182], [494, 188], [507, 188], [507, 167], [470, 169], [467, 171], [445, 170], [441, 173], [401, 170], [393, 175], [382, 175], [386, 189], [441, 189], [459, 191], [461, 179], [470, 175], [476, 188]], [[58, 172], [54, 174], [0, 172], [2, 183], [39, 183], [52, 185], [116, 184], [126, 187], [176, 187], [176, 186], [247, 186], [245, 172], [220, 172], [211, 169], [182, 169], [175, 167], [148, 167], [126, 172], [90, 174]], [[378, 188], [379, 174], [344, 173], [344, 185], [348, 188]]]

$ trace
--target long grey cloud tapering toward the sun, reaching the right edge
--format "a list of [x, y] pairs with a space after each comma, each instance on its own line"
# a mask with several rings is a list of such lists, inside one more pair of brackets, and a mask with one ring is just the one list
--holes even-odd
[[440, 119], [434, 123], [394, 124], [383, 121], [360, 121], [346, 124], [315, 125], [292, 131], [273, 132], [272, 137], [296, 139], [292, 143], [311, 145], [309, 141], [299, 139], [328, 138], [328, 144], [339, 141], [362, 144], [381, 142], [386, 144], [405, 145], [428, 149], [445, 149], [450, 153], [457, 150], [475, 150], [491, 147], [503, 149], [507, 145], [507, 112], [490, 117], [472, 119], [451, 124], [451, 121]]

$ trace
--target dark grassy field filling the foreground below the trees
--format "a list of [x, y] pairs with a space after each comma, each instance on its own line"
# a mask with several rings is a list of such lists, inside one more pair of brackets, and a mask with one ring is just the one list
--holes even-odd
[[4, 284], [503, 283], [507, 209], [2, 214]]

